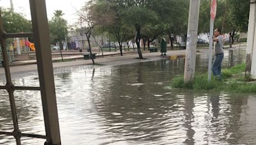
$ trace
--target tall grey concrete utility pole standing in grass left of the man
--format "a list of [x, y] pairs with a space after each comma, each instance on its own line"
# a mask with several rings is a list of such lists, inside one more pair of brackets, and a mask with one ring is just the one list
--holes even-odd
[[189, 83], [195, 76], [199, 9], [200, 0], [190, 0], [184, 83]]

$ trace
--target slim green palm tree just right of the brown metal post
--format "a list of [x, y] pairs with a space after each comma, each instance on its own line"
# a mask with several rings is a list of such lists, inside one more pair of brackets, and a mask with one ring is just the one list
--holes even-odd
[[67, 20], [62, 18], [63, 15], [64, 13], [61, 10], [55, 10], [54, 16], [49, 21], [51, 43], [59, 43], [61, 50], [63, 50], [62, 41], [65, 41], [65, 34], [67, 32]]

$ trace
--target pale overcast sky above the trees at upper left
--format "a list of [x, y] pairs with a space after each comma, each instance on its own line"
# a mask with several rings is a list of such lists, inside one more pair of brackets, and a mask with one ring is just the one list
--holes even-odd
[[[29, 0], [12, 0], [14, 11], [26, 15], [26, 18], [31, 20]], [[81, 6], [84, 6], [88, 0], [45, 0], [47, 17], [51, 19], [54, 10], [62, 10], [68, 24], [74, 24], [77, 21], [76, 10], [79, 10]], [[0, 6], [4, 8], [10, 8], [10, 0], [0, 0]]]

